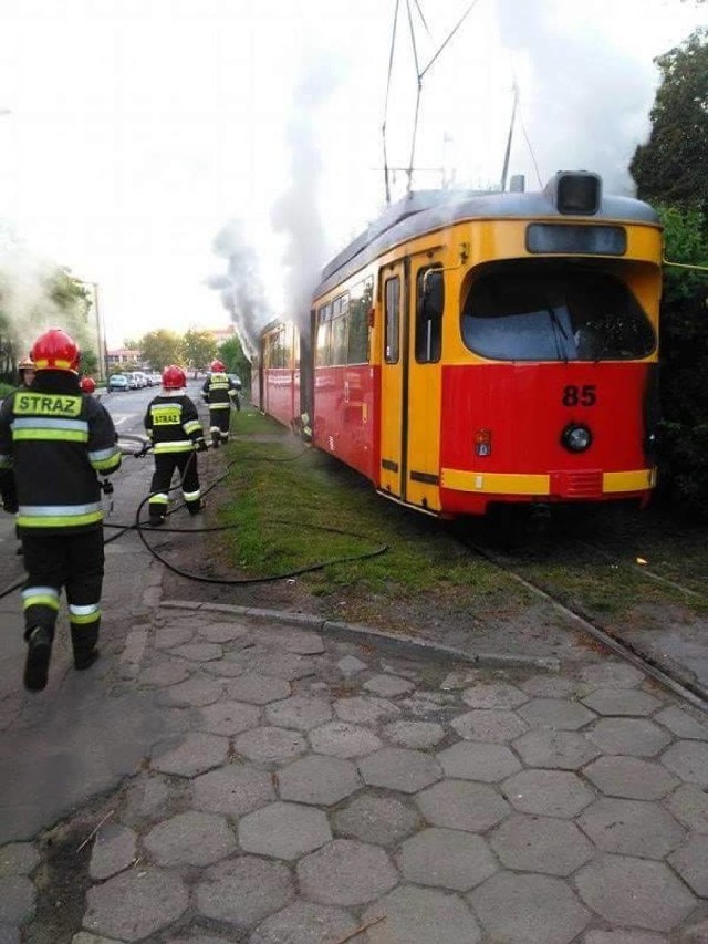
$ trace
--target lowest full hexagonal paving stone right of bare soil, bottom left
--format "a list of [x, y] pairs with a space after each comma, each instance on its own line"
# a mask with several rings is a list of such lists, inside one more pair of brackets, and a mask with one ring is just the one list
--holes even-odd
[[189, 894], [174, 872], [131, 869], [86, 893], [83, 926], [121, 941], [143, 941], [187, 910]]

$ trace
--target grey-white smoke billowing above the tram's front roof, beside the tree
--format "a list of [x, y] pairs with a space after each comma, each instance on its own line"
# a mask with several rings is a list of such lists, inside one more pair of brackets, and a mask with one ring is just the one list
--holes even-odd
[[657, 75], [649, 59], [620, 49], [617, 11], [589, 7], [581, 27], [559, 0], [497, 0], [497, 12], [524, 74], [511, 173], [525, 173], [535, 189], [537, 167], [543, 184], [556, 170], [595, 170], [607, 193], [632, 194], [628, 164], [649, 127]]

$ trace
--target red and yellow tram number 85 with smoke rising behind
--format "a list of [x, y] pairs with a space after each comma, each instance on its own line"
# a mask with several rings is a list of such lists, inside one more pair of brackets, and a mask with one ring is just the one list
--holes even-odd
[[266, 329], [257, 400], [434, 515], [645, 502], [660, 288], [657, 215], [595, 174], [412, 194], [325, 268], [308, 330]]

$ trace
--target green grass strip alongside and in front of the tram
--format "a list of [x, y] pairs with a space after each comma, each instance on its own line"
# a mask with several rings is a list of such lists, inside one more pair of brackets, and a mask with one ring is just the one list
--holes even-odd
[[[252, 408], [232, 418], [230, 467], [218, 495], [218, 523], [236, 525], [217, 538], [216, 556], [242, 577], [289, 574], [329, 614], [344, 601], [362, 621], [413, 609], [445, 619], [513, 618], [534, 599], [493, 563], [455, 540], [442, 522], [387, 501], [353, 470], [315, 449]], [[635, 512], [591, 516], [575, 532], [509, 564], [574, 610], [602, 623], [631, 620], [637, 608], [680, 606], [690, 616], [708, 613], [708, 541], [691, 532], [676, 538], [667, 522]], [[385, 553], [371, 556], [387, 547]], [[348, 558], [362, 557], [350, 561]], [[641, 573], [637, 557], [667, 579], [697, 589], [689, 598]], [[637, 611], [638, 612], [638, 611]]]

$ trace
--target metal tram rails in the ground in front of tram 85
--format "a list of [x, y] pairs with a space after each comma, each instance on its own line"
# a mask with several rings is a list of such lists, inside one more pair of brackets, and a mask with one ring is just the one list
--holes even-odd
[[[575, 608], [566, 601], [563, 601], [558, 592], [554, 592], [553, 587], [549, 585], [548, 582], [541, 582], [537, 579], [525, 577], [521, 572], [519, 561], [513, 557], [482, 544], [465, 535], [458, 536], [458, 540], [460, 540], [469, 550], [503, 570], [512, 580], [517, 581], [528, 591], [549, 603], [558, 612], [562, 613], [562, 615], [581, 633], [592, 636], [594, 640], [602, 643], [612, 652], [621, 655], [636, 667], [641, 668], [648, 676], [669, 688], [689, 704], [708, 713], [708, 686], [701, 684], [701, 682], [699, 682], [688, 670], [683, 671], [681, 667], [677, 666], [671, 660], [660, 658], [654, 653], [647, 653], [639, 649], [637, 645], [624, 637], [621, 631], [614, 629], [611, 630], [607, 626], [601, 625], [596, 619], [593, 619], [586, 612], [581, 611], [580, 608]], [[579, 539], [565, 539], [565, 543], [571, 542], [574, 542], [577, 547], [582, 548], [585, 553], [590, 551], [606, 560], [617, 561], [615, 554], [612, 554], [612, 552], [597, 547], [596, 544]], [[684, 584], [665, 578], [644, 566], [626, 564], [620, 561], [615, 563], [615, 567], [629, 567], [647, 581], [655, 581], [670, 587], [674, 591], [684, 593], [694, 599], [698, 598], [701, 600], [708, 600], [708, 592], [701, 593], [698, 590], [685, 587]]]

